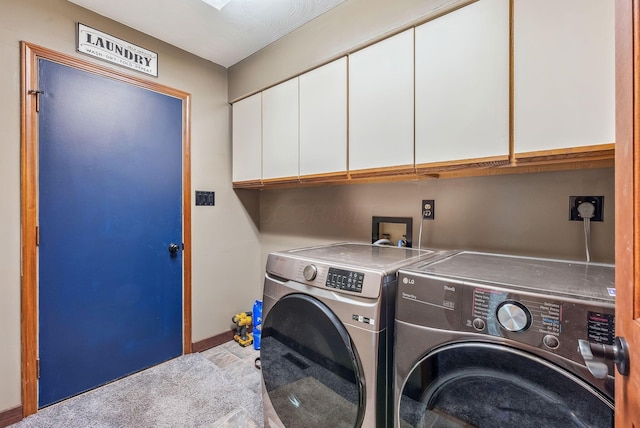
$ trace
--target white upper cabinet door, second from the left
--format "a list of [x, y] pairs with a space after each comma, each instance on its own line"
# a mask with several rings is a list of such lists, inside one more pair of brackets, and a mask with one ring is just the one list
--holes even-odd
[[298, 176], [298, 78], [262, 92], [262, 178]]

